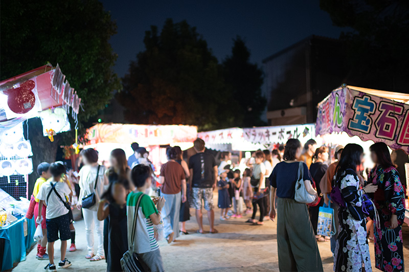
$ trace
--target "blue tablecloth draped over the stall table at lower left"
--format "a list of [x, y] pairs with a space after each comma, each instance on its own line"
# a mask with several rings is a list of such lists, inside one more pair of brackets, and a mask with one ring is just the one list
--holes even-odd
[[[24, 236], [24, 221], [27, 220], [27, 236]], [[1, 271], [13, 268], [13, 263], [26, 260], [26, 251], [34, 243], [35, 222], [22, 217], [6, 228], [0, 229], [0, 239], [5, 239]]]

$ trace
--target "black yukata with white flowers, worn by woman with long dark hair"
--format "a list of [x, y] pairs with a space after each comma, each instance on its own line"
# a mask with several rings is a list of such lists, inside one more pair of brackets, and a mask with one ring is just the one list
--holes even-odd
[[[335, 180], [347, 207], [339, 207], [339, 234], [336, 241], [334, 271], [372, 271], [365, 215], [356, 172], [347, 169]], [[365, 267], [362, 267], [365, 265]]]

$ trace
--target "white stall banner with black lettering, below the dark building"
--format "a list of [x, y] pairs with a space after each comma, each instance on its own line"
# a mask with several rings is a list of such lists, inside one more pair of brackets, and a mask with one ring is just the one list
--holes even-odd
[[260, 144], [285, 143], [288, 139], [296, 138], [302, 144], [315, 136], [315, 125], [289, 125], [274, 127], [243, 128], [246, 141]]

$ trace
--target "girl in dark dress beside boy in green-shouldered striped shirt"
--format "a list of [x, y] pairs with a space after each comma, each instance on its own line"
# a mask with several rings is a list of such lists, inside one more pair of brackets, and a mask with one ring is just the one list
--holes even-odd
[[102, 195], [98, 207], [98, 220], [109, 219], [107, 268], [109, 271], [122, 271], [121, 258], [128, 250], [126, 219], [126, 196], [129, 192], [127, 180], [116, 180]]

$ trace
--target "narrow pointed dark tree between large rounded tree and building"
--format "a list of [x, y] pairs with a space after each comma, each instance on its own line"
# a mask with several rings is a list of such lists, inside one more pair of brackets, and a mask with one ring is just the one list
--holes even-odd
[[267, 103], [261, 93], [263, 72], [256, 63], [250, 62], [250, 52], [240, 37], [234, 40], [232, 55], [223, 61], [223, 76], [239, 104], [237, 115], [242, 121], [237, 122], [237, 126], [264, 125], [260, 119]]

